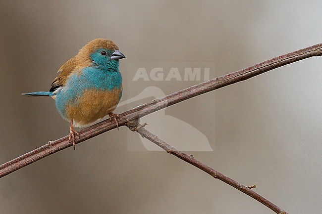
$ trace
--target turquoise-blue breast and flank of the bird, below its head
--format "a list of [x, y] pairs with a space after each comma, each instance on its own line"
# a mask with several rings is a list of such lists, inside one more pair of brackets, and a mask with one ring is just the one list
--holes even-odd
[[[80, 72], [71, 74], [66, 85], [56, 94], [56, 108], [59, 114], [69, 120], [65, 114], [66, 105], [76, 106], [83, 91], [87, 89], [112, 90], [122, 87], [122, 76], [119, 71], [102, 70], [86, 67]], [[120, 92], [121, 98], [122, 93]]]

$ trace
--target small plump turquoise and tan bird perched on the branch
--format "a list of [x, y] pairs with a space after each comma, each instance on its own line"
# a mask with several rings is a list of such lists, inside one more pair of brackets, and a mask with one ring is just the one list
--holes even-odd
[[24, 96], [50, 96], [58, 113], [70, 122], [69, 141], [79, 133], [74, 127], [85, 127], [106, 117], [118, 129], [114, 114], [122, 97], [122, 75], [119, 60], [125, 55], [108, 39], [95, 39], [83, 46], [78, 54], [58, 69], [49, 91], [23, 93]]

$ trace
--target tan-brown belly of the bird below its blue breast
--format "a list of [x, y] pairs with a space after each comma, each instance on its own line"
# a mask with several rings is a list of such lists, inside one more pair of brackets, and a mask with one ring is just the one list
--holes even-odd
[[104, 118], [116, 108], [121, 89], [111, 91], [90, 89], [84, 91], [77, 105], [67, 106], [66, 113], [75, 127], [84, 127]]

